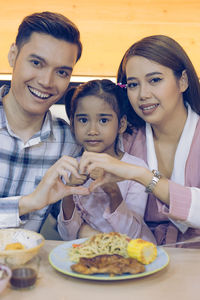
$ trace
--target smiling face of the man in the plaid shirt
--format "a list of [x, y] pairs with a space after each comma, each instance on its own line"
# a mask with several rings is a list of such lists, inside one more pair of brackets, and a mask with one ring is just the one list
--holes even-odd
[[10, 100], [16, 110], [44, 115], [65, 93], [77, 53], [77, 45], [40, 33], [33, 33], [20, 50], [13, 46]]

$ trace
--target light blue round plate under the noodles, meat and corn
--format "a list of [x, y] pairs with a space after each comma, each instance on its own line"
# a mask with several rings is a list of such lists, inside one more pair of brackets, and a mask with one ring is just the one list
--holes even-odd
[[73, 244], [83, 243], [86, 239], [78, 239], [69, 242], [63, 242], [59, 246], [55, 247], [49, 254], [49, 262], [54, 269], [57, 271], [81, 279], [90, 279], [90, 280], [106, 280], [106, 281], [115, 281], [115, 280], [128, 280], [134, 278], [145, 277], [151, 274], [154, 274], [162, 269], [164, 269], [169, 263], [169, 256], [162, 247], [158, 247], [157, 258], [149, 265], [145, 265], [145, 272], [138, 274], [128, 274], [109, 276], [109, 274], [93, 274], [93, 275], [84, 275], [75, 273], [71, 270], [71, 265], [73, 262], [70, 261], [68, 256], [68, 251]]

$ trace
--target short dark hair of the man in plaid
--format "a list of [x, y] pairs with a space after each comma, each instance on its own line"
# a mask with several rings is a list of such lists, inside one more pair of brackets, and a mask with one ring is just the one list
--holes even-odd
[[18, 28], [16, 37], [16, 45], [19, 50], [30, 40], [34, 32], [48, 34], [56, 39], [65, 40], [77, 45], [77, 61], [81, 57], [82, 44], [80, 41], [80, 32], [76, 25], [65, 16], [45, 11], [25, 17]]

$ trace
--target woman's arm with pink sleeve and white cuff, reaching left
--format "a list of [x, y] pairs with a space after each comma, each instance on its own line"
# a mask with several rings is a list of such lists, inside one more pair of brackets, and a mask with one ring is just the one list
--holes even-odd
[[[118, 182], [123, 179], [135, 180], [146, 187], [153, 177], [148, 168], [119, 161], [107, 154], [85, 152], [83, 159], [80, 164], [81, 170], [87, 170], [89, 173], [94, 168], [101, 167], [105, 172], [105, 176], [102, 175], [93, 183], [91, 190], [105, 182]], [[199, 188], [182, 186], [162, 177], [153, 194], [160, 200], [160, 212], [174, 220], [183, 221], [190, 227], [200, 228]]]

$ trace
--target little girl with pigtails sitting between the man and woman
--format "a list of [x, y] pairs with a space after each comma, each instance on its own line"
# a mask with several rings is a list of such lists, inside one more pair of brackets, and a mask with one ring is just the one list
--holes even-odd
[[[123, 90], [110, 80], [92, 80], [80, 85], [66, 95], [71, 128], [83, 151], [107, 153], [123, 162], [146, 166], [143, 160], [119, 148], [120, 134], [131, 133], [124, 113], [127, 103], [124, 97]], [[89, 187], [100, 172], [101, 169], [96, 169], [90, 178], [71, 176], [71, 185]], [[68, 196], [62, 201], [58, 231], [64, 240], [72, 240], [85, 236], [80, 232], [82, 225], [87, 224], [92, 234], [116, 231], [155, 242], [143, 221], [146, 201], [144, 187], [131, 180], [104, 184], [87, 196]]]

